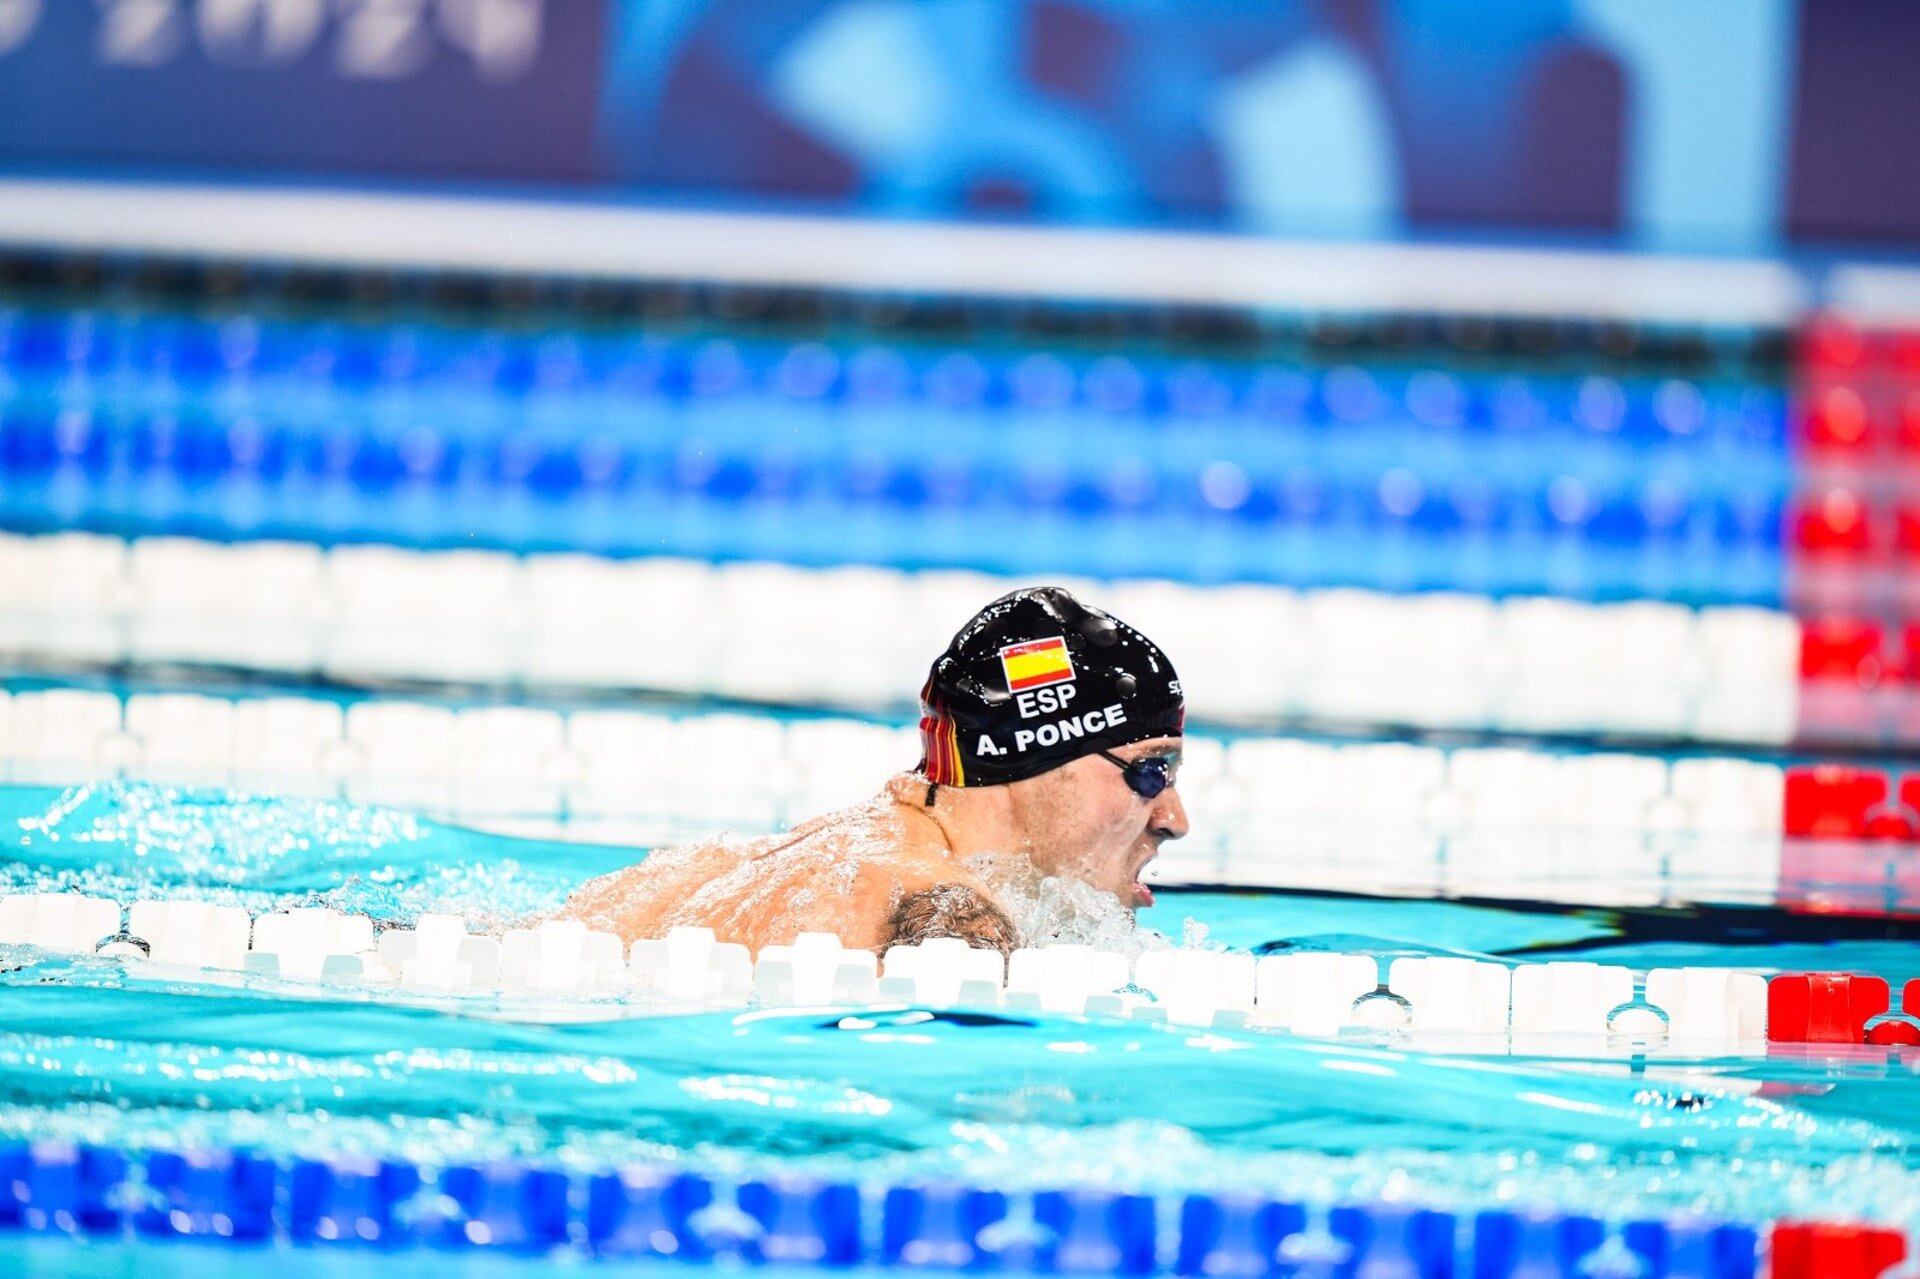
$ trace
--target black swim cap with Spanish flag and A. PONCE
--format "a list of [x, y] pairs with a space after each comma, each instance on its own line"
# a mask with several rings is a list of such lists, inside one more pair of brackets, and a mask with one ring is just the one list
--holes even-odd
[[1154, 641], [1073, 591], [1002, 595], [960, 628], [920, 689], [920, 772], [1002, 785], [1092, 751], [1179, 737], [1187, 701]]

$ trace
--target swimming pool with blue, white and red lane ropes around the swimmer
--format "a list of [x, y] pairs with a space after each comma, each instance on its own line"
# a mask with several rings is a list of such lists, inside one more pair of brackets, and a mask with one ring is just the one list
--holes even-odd
[[[0, 893], [252, 937], [213, 972], [0, 945], [0, 1269], [211, 1275], [248, 1235], [315, 1273], [361, 1264], [342, 1239], [407, 1244], [394, 1273], [780, 1269], [755, 1231], [797, 1212], [849, 1266], [1511, 1279], [1532, 1231], [1530, 1279], [1705, 1279], [1755, 1237], [1741, 1269], [1688, 1221], [1920, 1225], [1912, 1050], [1859, 1043], [1889, 1004], [1914, 1037], [1920, 974], [1893, 511], [1847, 519], [1895, 442], [1803, 415], [1774, 321], [227, 278], [0, 296]], [[1801, 373], [1893, 396], [1847, 346]], [[712, 945], [751, 985], [707, 1004], [653, 951], [507, 977], [580, 880], [908, 766], [927, 655], [1029, 572], [1188, 684], [1200, 820], [1142, 916], [1179, 951], [1056, 895], [1027, 977], [1064, 999], [891, 962], [803, 999], [797, 956]], [[371, 966], [267, 945], [336, 918]], [[407, 977], [449, 929], [474, 989]], [[1734, 968], [1887, 987], [1761, 1037]], [[1250, 1006], [1183, 1004], [1194, 972]], [[1724, 1033], [1680, 1033], [1695, 997]], [[1354, 1243], [1423, 1212], [1457, 1254]]]

